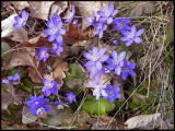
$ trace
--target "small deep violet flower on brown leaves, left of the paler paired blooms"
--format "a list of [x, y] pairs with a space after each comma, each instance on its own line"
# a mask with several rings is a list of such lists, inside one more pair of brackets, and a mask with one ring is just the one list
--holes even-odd
[[39, 56], [38, 60], [43, 60], [45, 62], [49, 57], [49, 53], [47, 52], [46, 48], [39, 47], [39, 51], [37, 52], [37, 56]]

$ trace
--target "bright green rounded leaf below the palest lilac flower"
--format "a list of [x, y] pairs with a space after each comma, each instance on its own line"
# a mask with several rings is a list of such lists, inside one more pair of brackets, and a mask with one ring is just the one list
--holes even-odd
[[90, 115], [107, 115], [107, 112], [112, 111], [114, 108], [115, 104], [109, 103], [108, 99], [100, 97], [100, 99], [96, 100], [93, 96], [88, 96], [82, 106], [82, 110]]

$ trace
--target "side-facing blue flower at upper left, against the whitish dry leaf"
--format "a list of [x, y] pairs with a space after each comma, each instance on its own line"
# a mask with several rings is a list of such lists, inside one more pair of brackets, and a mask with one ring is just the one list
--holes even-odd
[[13, 24], [13, 27], [16, 27], [16, 29], [19, 31], [22, 26], [24, 26], [26, 24], [26, 21], [28, 19], [28, 13], [25, 11], [22, 11], [21, 16], [15, 16], [14, 20], [18, 22], [15, 24]]

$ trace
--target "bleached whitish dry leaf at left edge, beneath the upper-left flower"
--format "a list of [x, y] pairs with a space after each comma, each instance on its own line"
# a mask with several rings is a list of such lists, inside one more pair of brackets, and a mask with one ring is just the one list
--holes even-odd
[[14, 16], [16, 16], [16, 14], [12, 14], [8, 19], [1, 21], [1, 38], [7, 37], [21, 43], [27, 41], [27, 32], [23, 27], [20, 31], [13, 27], [13, 24], [16, 23]]

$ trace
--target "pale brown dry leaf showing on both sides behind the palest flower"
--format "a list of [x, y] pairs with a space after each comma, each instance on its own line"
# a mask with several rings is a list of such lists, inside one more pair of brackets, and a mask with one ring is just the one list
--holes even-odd
[[[104, 85], [104, 87], [106, 87], [107, 84], [110, 84], [110, 80], [112, 80], [112, 76], [109, 76], [108, 74], [106, 74], [106, 73], [101, 74], [101, 83]], [[83, 86], [91, 87], [89, 85], [89, 82], [95, 82], [95, 79], [84, 80]]]

